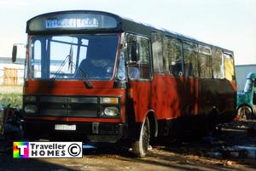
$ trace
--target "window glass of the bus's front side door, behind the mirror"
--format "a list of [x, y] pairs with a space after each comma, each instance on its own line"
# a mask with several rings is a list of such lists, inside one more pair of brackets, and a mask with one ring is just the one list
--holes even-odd
[[128, 75], [131, 79], [150, 79], [149, 40], [135, 35], [127, 36], [128, 43]]

